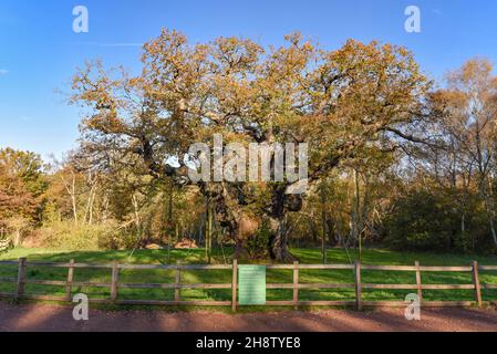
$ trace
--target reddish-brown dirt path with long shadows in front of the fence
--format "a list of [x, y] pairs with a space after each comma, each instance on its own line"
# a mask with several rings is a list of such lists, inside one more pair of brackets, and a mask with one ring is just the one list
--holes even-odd
[[407, 321], [401, 309], [372, 312], [322, 310], [229, 315], [213, 312], [90, 311], [90, 321], [72, 319], [72, 308], [12, 305], [0, 302], [0, 331], [117, 332], [343, 332], [343, 331], [491, 331], [497, 311], [426, 309], [421, 321]]

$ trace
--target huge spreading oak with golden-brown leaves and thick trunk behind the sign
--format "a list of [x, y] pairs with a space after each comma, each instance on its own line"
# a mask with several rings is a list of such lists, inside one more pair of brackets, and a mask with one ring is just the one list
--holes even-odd
[[[327, 51], [300, 34], [280, 48], [241, 38], [189, 44], [163, 30], [143, 48], [143, 71], [87, 63], [73, 79], [72, 102], [87, 113], [82, 152], [106, 168], [133, 168], [153, 179], [191, 185], [184, 157], [193, 143], [308, 143], [309, 181], [354, 156], [395, 154], [418, 142], [429, 83], [405, 49], [348, 41]], [[421, 135], [421, 134], [420, 134]], [[191, 157], [195, 158], [195, 157]], [[179, 166], [172, 164], [176, 159]], [[288, 212], [303, 195], [292, 183], [197, 183], [238, 257], [262, 220], [270, 254], [290, 261]]]

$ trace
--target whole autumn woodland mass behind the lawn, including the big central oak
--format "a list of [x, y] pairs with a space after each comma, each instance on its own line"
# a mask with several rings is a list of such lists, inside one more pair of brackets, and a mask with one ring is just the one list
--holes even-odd
[[[89, 62], [70, 100], [84, 110], [81, 147], [49, 162], [0, 150], [0, 238], [65, 249], [189, 238], [277, 260], [288, 243], [497, 253], [493, 64], [474, 59], [436, 83], [403, 48], [287, 40], [193, 46], [163, 31], [139, 76]], [[288, 185], [194, 185], [166, 163], [213, 133], [309, 143], [311, 188], [280, 200]]]

